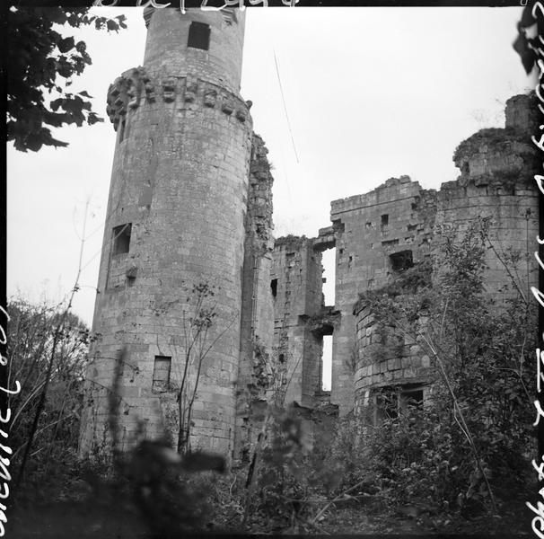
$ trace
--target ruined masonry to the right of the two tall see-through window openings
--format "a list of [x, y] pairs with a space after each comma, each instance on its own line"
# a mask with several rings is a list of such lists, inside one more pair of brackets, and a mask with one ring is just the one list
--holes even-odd
[[[349, 334], [353, 327], [356, 335], [355, 411], [379, 408], [384, 399], [399, 407], [402, 395], [410, 392], [428, 397], [437, 376], [428, 350], [401, 331], [402, 321], [388, 326], [376, 316], [369, 293], [385, 296], [394, 286], [397, 304], [408, 305], [414, 297], [405, 287], [414, 280], [410, 272], [423, 273], [430, 265], [426, 286], [432, 286], [440, 262], [435, 257], [446, 236], [460, 241], [469, 225], [478, 223], [486, 248], [486, 292], [497, 307], [516, 295], [528, 297], [536, 284], [538, 266], [529, 252], [539, 225], [533, 180], [538, 162], [529, 142], [530, 109], [531, 97], [516, 96], [507, 102], [505, 128], [482, 129], [463, 141], [453, 156], [461, 175], [438, 192], [402, 177], [359, 198], [332, 203], [331, 218], [344, 225], [337, 234], [337, 297], [344, 300], [341, 331]], [[355, 293], [359, 299], [350, 313]], [[425, 305], [416, 323], [426, 331]], [[337, 343], [336, 352], [344, 346]], [[333, 392], [335, 398], [342, 399], [342, 393]]]

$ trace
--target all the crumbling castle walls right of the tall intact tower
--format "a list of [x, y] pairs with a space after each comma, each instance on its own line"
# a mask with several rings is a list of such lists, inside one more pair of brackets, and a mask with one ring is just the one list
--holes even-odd
[[[426, 275], [431, 286], [438, 275], [434, 256], [444, 238], [460, 241], [475, 221], [486, 248], [484, 280], [490, 300], [498, 306], [515, 295], [529, 297], [538, 278], [537, 263], [528, 254], [538, 234], [532, 110], [536, 104], [531, 95], [508, 100], [505, 128], [482, 129], [461, 142], [453, 155], [461, 175], [440, 190], [425, 190], [408, 176], [390, 178], [368, 193], [331, 202], [332, 225], [317, 237], [276, 242], [271, 282], [275, 344], [302, 363], [292, 400], [312, 405], [312, 393], [303, 387], [320, 384], [317, 364], [322, 336], [328, 334], [333, 336], [332, 387], [326, 397], [338, 404], [340, 414], [375, 404], [383, 392], [392, 392], [399, 403], [406, 392], [421, 392], [425, 400], [436, 376], [431, 359], [420, 343], [376, 320], [365, 295], [399, 287], [410, 272], [423, 274], [429, 267], [434, 268]], [[333, 247], [336, 300], [325, 306], [317, 299], [316, 256]], [[408, 303], [409, 287], [402, 294]], [[417, 318], [425, 331], [425, 307]], [[313, 399], [314, 404], [319, 400]]]

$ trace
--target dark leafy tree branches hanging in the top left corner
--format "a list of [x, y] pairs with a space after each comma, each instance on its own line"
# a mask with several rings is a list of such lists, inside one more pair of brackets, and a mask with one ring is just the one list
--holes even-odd
[[99, 17], [90, 8], [12, 7], [8, 14], [7, 137], [17, 150], [68, 146], [50, 128], [102, 121], [85, 91], [70, 93], [75, 75], [92, 63], [86, 44], [61, 33], [61, 27], [97, 30], [126, 28], [125, 16]]

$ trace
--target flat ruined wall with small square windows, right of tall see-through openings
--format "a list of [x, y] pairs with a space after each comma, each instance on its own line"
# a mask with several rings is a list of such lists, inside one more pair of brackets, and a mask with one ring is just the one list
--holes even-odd
[[358, 338], [366, 331], [366, 322], [357, 322], [354, 303], [360, 293], [387, 285], [430, 254], [435, 207], [434, 190], [423, 190], [408, 176], [390, 178], [369, 193], [331, 203], [336, 308], [341, 314], [333, 339], [331, 399], [343, 413], [354, 407], [355, 393], [366, 376], [358, 364]]

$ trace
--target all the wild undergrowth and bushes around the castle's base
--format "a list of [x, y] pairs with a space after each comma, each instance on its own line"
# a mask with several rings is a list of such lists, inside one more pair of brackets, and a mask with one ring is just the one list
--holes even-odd
[[[381, 533], [393, 531], [391, 522], [404, 530], [464, 531], [474, 530], [478, 518], [487, 531], [489, 515], [501, 531], [518, 531], [516, 500], [524, 499], [531, 477], [527, 388], [534, 376], [535, 323], [520, 283], [505, 304], [495, 305], [484, 287], [488, 250], [493, 244], [483, 221], [464, 233], [444, 233], [434, 260], [361, 298], [374, 323], [404, 344], [417, 343], [432, 359], [436, 382], [425, 405], [409, 404], [376, 423], [371, 404], [338, 421], [334, 414], [286, 406], [285, 384], [278, 383], [285, 368], [278, 365], [261, 376], [268, 404], [252, 409], [250, 458], [228, 473], [220, 473], [220, 457], [190, 450], [179, 455], [161, 440], [141, 442], [122, 455], [117, 469], [103, 455], [77, 462], [76, 411], [89, 332], [70, 318], [23, 492], [42, 495], [36, 487], [47, 470], [50, 499], [82, 503], [100, 492], [106, 501], [93, 503], [104, 510], [115, 506], [164, 536], [194, 529]], [[515, 277], [523, 257], [502, 254], [507, 274]], [[202, 305], [213, 297], [206, 290], [200, 296]], [[35, 380], [27, 387], [42, 380], [37, 358], [50, 346], [47, 321], [56, 315], [12, 306], [12, 363], [20, 379]], [[257, 351], [270, 359], [262, 347]], [[375, 406], [386, 405], [383, 399]], [[28, 425], [31, 401], [26, 414], [19, 408], [17, 421]], [[25, 432], [15, 431], [19, 446]], [[355, 527], [346, 529], [342, 519]]]

